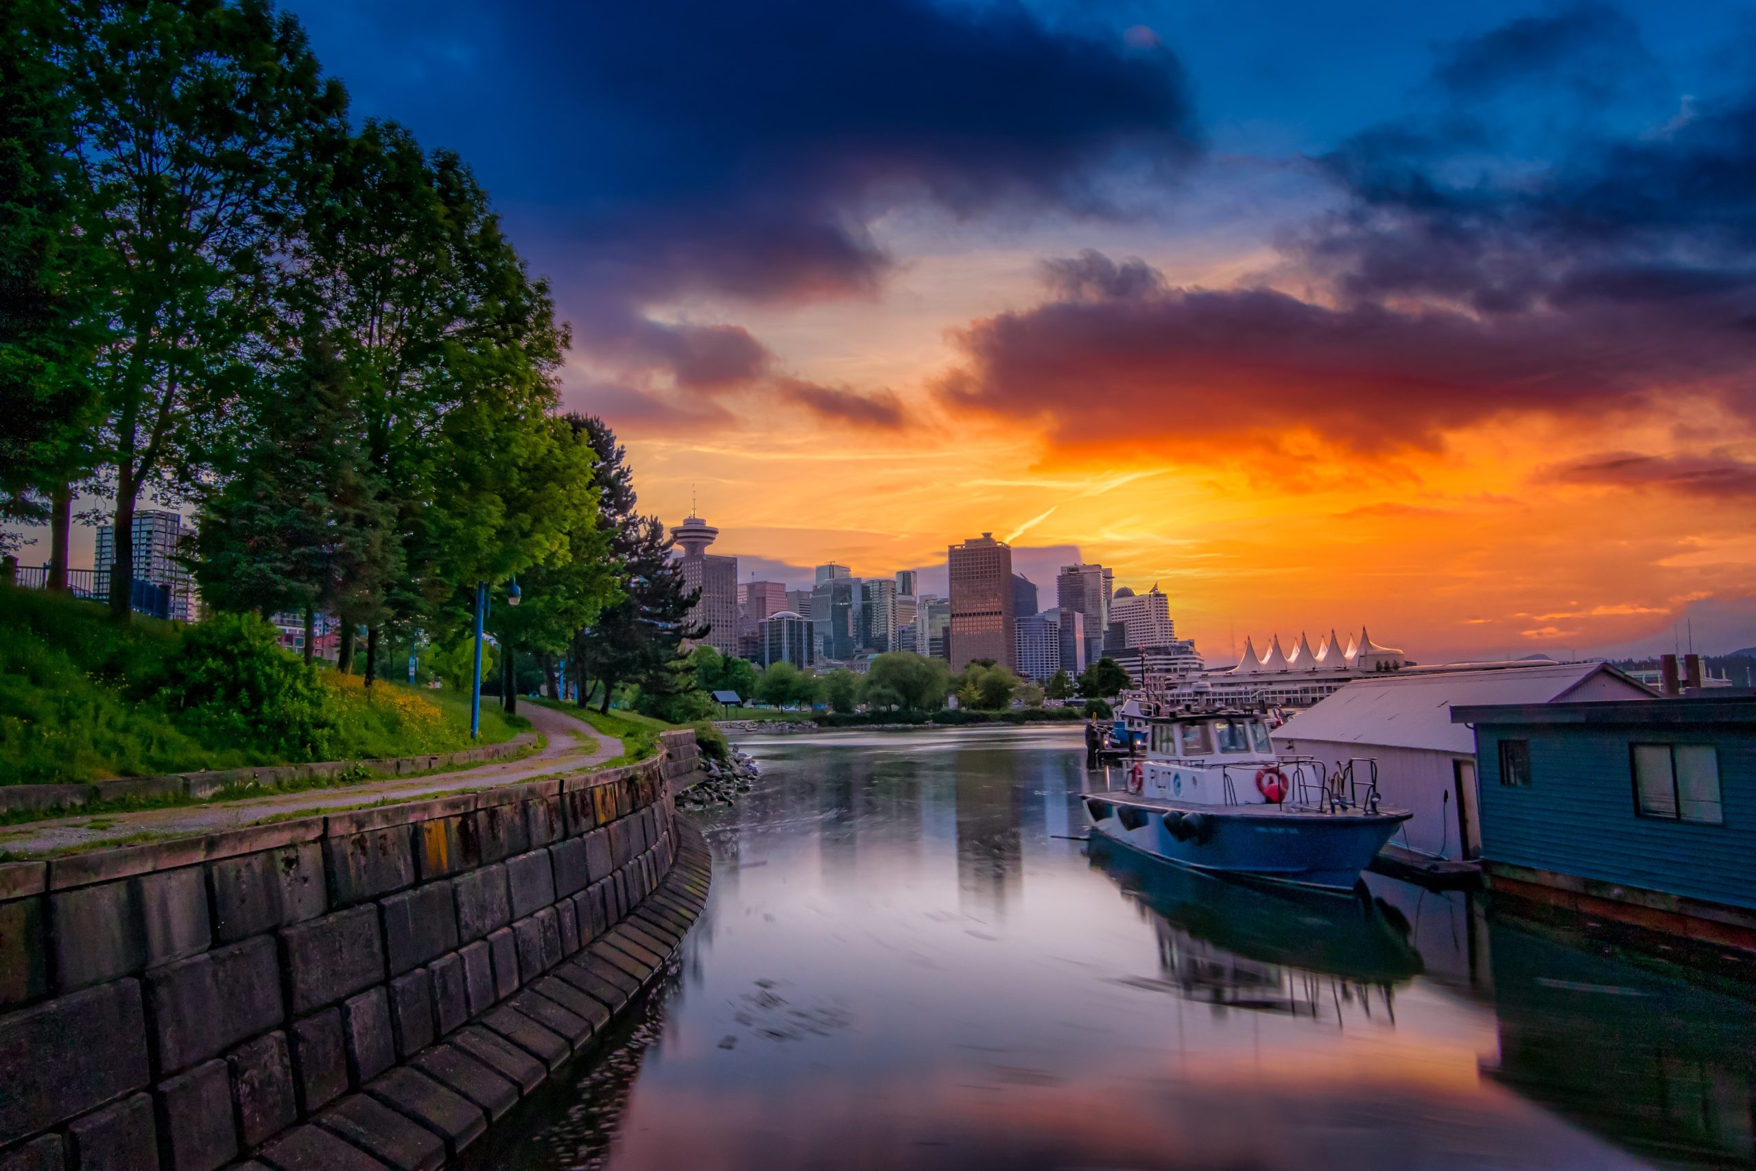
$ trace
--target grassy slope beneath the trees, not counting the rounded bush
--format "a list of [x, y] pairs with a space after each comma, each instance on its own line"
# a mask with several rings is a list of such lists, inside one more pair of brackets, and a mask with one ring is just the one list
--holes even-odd
[[[139, 614], [121, 625], [97, 602], [0, 586], [0, 785], [413, 757], [471, 746], [465, 695], [388, 679], [367, 688], [358, 676], [327, 667], [318, 669], [321, 686], [313, 692], [313, 711], [325, 729], [321, 757], [286, 755], [235, 730], [216, 730], [160, 699], [167, 671], [188, 664], [188, 632], [181, 623]], [[248, 650], [286, 655], [272, 646]], [[286, 655], [286, 662], [293, 657]], [[299, 667], [283, 664], [276, 671]], [[478, 743], [504, 743], [529, 727], [485, 704]]]

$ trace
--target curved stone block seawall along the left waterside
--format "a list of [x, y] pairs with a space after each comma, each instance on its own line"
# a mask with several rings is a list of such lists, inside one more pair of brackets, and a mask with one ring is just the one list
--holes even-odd
[[441, 1166], [681, 943], [697, 767], [0, 866], [0, 1171]]

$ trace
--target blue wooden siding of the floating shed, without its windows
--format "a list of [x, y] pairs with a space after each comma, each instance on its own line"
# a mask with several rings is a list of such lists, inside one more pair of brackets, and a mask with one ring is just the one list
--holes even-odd
[[[1751, 725], [1480, 723], [1482, 857], [1756, 908], [1756, 734]], [[1531, 783], [1500, 783], [1500, 741], [1528, 739]], [[1714, 744], [1724, 825], [1635, 815], [1631, 743]]]

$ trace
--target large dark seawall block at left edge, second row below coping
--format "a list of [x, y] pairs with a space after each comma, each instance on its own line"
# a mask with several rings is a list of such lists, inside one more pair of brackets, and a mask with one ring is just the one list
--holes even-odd
[[149, 1080], [137, 980], [7, 1013], [0, 1017], [0, 1146]]

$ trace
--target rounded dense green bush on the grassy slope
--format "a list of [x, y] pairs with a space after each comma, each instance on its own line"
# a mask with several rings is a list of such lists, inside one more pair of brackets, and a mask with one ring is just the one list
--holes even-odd
[[211, 744], [323, 760], [334, 741], [335, 713], [316, 667], [281, 650], [276, 629], [253, 614], [216, 614], [190, 627], [146, 686], [186, 732]]

